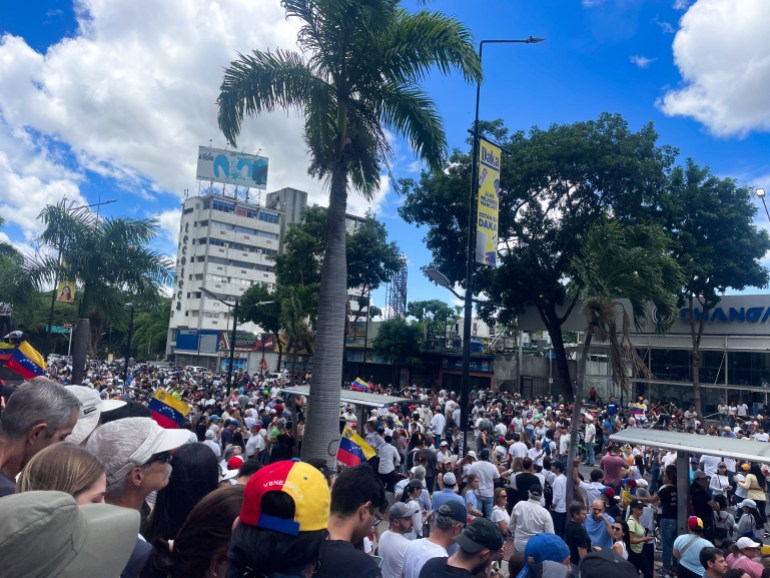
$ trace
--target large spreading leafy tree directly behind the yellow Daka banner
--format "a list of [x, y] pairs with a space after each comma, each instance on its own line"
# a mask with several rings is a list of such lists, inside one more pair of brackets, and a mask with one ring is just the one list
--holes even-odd
[[[638, 132], [619, 115], [595, 121], [533, 127], [509, 136], [500, 122], [481, 123], [483, 133], [507, 154], [500, 179], [499, 266], [478, 267], [475, 287], [489, 297], [480, 308], [508, 324], [522, 307], [537, 309], [553, 343], [562, 394], [572, 395], [561, 328], [577, 303], [568, 293], [573, 258], [594, 223], [607, 215], [621, 222], [660, 218], [659, 199], [675, 151], [658, 146], [652, 125]], [[455, 152], [442, 171], [406, 182], [410, 193], [399, 210], [408, 222], [426, 225], [434, 264], [453, 283], [465, 285], [469, 155]], [[491, 305], [496, 304], [496, 305]]]

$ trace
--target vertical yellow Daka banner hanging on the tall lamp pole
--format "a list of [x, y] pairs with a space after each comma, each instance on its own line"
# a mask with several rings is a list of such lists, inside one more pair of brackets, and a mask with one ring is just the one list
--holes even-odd
[[479, 190], [476, 205], [476, 262], [497, 264], [500, 192], [500, 147], [479, 139]]

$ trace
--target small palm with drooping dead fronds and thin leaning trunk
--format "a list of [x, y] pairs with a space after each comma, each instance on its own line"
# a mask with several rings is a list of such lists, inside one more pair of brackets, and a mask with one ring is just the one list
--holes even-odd
[[[645, 225], [624, 226], [617, 221], [595, 225], [572, 264], [576, 281], [582, 286], [581, 313], [587, 326], [578, 360], [571, 442], [565, 464], [570, 482], [586, 387], [586, 361], [593, 340], [609, 342], [610, 373], [623, 390], [630, 390], [629, 365], [634, 375], [651, 379], [631, 342], [631, 319], [637, 329], [641, 328], [654, 306], [656, 329], [665, 331], [674, 319], [675, 294], [682, 282], [682, 272], [670, 255], [667, 237], [661, 230]], [[630, 303], [630, 315], [620, 298]], [[572, 501], [572, 493], [573, 484], [568, 483], [567, 504]]]

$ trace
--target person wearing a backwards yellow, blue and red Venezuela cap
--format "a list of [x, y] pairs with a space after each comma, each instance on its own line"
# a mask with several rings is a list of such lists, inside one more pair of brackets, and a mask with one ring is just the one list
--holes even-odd
[[327, 538], [331, 493], [303, 462], [265, 466], [246, 484], [230, 540], [228, 578], [310, 578]]

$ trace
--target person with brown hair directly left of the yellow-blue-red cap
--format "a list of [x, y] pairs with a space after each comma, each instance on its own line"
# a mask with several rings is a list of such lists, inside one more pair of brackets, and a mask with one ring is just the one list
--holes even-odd
[[243, 488], [219, 488], [198, 502], [176, 539], [156, 544], [142, 578], [224, 577], [233, 522], [243, 504]]

